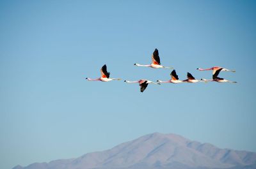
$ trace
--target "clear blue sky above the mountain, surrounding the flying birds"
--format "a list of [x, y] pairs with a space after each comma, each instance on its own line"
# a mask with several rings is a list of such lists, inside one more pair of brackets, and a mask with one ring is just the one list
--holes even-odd
[[[77, 158], [153, 132], [256, 152], [255, 1], [1, 1], [0, 168]], [[158, 48], [180, 79], [141, 68]]]

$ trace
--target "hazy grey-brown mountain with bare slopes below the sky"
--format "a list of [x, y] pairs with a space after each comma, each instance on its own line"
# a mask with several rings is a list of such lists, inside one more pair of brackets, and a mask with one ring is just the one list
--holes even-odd
[[256, 153], [152, 133], [102, 152], [13, 169], [255, 169]]

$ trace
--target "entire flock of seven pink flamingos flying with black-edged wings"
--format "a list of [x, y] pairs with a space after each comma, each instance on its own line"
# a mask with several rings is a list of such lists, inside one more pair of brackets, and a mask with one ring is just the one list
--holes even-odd
[[[138, 64], [135, 63], [135, 66], [143, 66], [143, 67], [150, 67], [150, 68], [168, 68], [168, 69], [173, 69], [172, 67], [166, 67], [166, 66], [162, 66], [161, 62], [160, 62], [160, 57], [159, 57], [159, 53], [157, 48], [155, 49], [155, 51], [152, 54], [152, 62], [151, 64]], [[179, 84], [179, 83], [184, 83], [184, 82], [188, 82], [188, 83], [196, 83], [196, 82], [230, 82], [230, 83], [237, 83], [237, 82], [232, 82], [230, 80], [224, 79], [224, 78], [220, 78], [218, 77], [220, 71], [232, 71], [232, 72], [236, 72], [235, 70], [228, 70], [226, 68], [221, 68], [219, 66], [214, 66], [212, 68], [208, 68], [208, 69], [202, 69], [202, 68], [197, 68], [196, 70], [199, 71], [207, 71], [207, 70], [212, 70], [212, 79], [205, 79], [202, 78], [201, 80], [195, 79], [195, 77], [193, 77], [193, 75], [191, 75], [191, 73], [187, 73], [187, 79], [186, 80], [179, 80], [178, 75], [176, 74], [176, 71], [173, 70], [171, 75], [171, 79], [168, 81], [162, 81], [162, 80], [157, 80], [155, 82], [152, 82], [150, 80], [147, 79], [140, 79], [140, 80], [136, 80], [136, 81], [129, 81], [129, 80], [124, 80], [124, 82], [126, 83], [138, 83], [140, 85], [140, 91], [143, 92], [145, 91], [145, 89], [147, 88], [148, 84], [162, 84], [162, 83], [172, 83], [172, 84]], [[111, 80], [121, 80], [120, 78], [109, 78], [110, 73], [107, 71], [107, 66], [106, 64], [104, 64], [104, 66], [102, 66], [102, 68], [100, 69], [100, 73], [101, 73], [101, 77], [100, 78], [96, 78], [96, 79], [92, 79], [92, 78], [86, 78], [88, 81], [102, 81], [102, 82], [109, 82]]]

